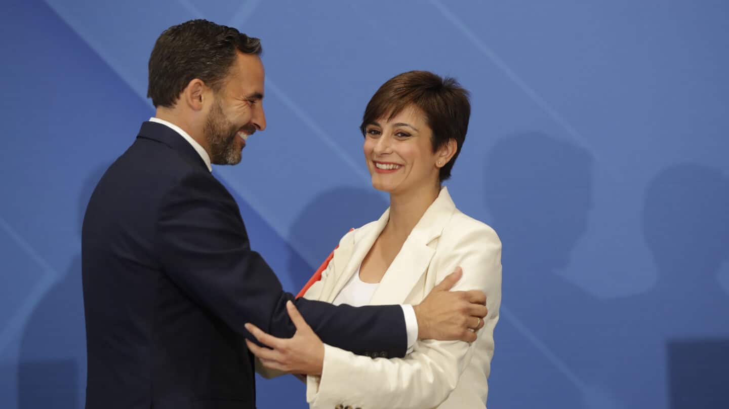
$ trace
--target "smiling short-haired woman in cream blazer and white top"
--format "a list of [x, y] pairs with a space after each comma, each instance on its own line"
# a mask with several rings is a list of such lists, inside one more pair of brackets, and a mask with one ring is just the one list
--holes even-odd
[[283, 349], [280, 339], [254, 329], [273, 347], [249, 343], [263, 365], [301, 373], [316, 361], [311, 366], [321, 375], [307, 378], [311, 408], [486, 408], [501, 303], [501, 242], [491, 227], [456, 209], [441, 185], [451, 176], [469, 115], [468, 92], [452, 78], [410, 71], [380, 87], [360, 128], [373, 187], [389, 193], [390, 207], [341, 239], [304, 297], [337, 305], [417, 304], [460, 266], [463, 276], [453, 289], [486, 293], [486, 318], [464, 326], [475, 329], [477, 340], [418, 341], [402, 359], [324, 345], [321, 358], [321, 340], [307, 340], [311, 331], [301, 321], [302, 335], [285, 343], [286, 351], [276, 351]]

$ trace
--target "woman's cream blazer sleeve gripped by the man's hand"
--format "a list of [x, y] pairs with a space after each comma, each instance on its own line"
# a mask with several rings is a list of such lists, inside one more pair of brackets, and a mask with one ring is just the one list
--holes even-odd
[[453, 290], [486, 292], [488, 316], [478, 333], [480, 343], [419, 340], [412, 354], [396, 359], [358, 357], [326, 345], [321, 377], [307, 378], [311, 408], [433, 408], [456, 388], [474, 348], [488, 348], [490, 363], [501, 303], [501, 242], [494, 230], [482, 226], [439, 249], [441, 257], [431, 265], [437, 282], [460, 265], [464, 275]]

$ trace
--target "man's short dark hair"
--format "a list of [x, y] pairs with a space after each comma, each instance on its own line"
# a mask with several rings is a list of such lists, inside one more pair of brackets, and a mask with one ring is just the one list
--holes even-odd
[[170, 108], [195, 78], [219, 90], [238, 51], [260, 55], [261, 41], [208, 20], [190, 20], [166, 29], [149, 56], [147, 97], [155, 107]]

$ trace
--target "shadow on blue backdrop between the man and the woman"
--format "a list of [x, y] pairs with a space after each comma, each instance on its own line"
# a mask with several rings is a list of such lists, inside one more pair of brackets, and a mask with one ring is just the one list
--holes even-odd
[[289, 260], [289, 271], [297, 289], [303, 287], [311, 274], [339, 244], [351, 228], [378, 219], [389, 203], [380, 192], [355, 187], [335, 187], [308, 203], [301, 211], [289, 234], [289, 242], [303, 246], [305, 254], [315, 254], [317, 264], [311, 271], [300, 273], [297, 260]]

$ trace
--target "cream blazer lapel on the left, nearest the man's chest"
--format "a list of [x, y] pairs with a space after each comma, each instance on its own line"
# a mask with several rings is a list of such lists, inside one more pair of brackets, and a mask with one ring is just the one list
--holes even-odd
[[[367, 252], [370, 252], [373, 244], [375, 244], [375, 240], [379, 237], [382, 229], [385, 228], [389, 218], [390, 209], [388, 208], [377, 222], [368, 226], [370, 228], [362, 228], [354, 231], [354, 243], [352, 244], [351, 251], [346, 249], [347, 251], [335, 252], [332, 261], [334, 262], [335, 268], [334, 276], [337, 279], [334, 287], [332, 287], [330, 292], [322, 295], [321, 300], [327, 301], [327, 303], [334, 301], [335, 297], [337, 297], [352, 275], [359, 270], [359, 265], [362, 264], [362, 260], [364, 260]], [[341, 246], [340, 249], [342, 249]]]

